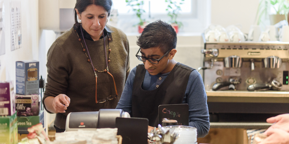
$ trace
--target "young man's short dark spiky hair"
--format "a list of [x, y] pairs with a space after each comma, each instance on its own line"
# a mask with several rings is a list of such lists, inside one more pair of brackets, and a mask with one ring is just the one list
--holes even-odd
[[136, 42], [142, 49], [160, 47], [163, 53], [177, 46], [177, 33], [171, 24], [157, 20], [148, 24]]

